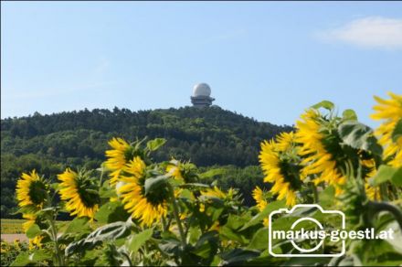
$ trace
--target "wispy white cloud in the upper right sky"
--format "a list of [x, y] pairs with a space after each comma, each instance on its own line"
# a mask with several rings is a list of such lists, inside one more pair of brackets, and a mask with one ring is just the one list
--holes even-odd
[[363, 48], [402, 48], [402, 19], [381, 16], [358, 18], [343, 27], [318, 34], [325, 41], [339, 41]]

